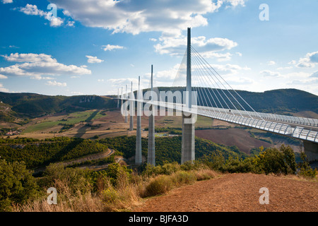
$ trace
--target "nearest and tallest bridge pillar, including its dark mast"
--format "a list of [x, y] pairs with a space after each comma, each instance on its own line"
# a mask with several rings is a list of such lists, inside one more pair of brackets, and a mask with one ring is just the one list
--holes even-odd
[[[191, 85], [191, 28], [188, 28], [187, 37], [187, 95], [186, 106], [187, 109], [192, 108], [192, 85]], [[194, 122], [192, 116], [182, 113], [182, 149], [181, 149], [181, 163], [194, 160]]]

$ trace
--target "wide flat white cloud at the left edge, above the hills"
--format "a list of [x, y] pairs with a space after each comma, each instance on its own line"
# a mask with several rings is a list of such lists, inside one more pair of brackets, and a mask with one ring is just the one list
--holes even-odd
[[14, 61], [22, 64], [13, 64], [0, 68], [4, 76], [30, 76], [41, 79], [42, 76], [84, 75], [91, 74], [85, 66], [65, 65], [57, 62], [57, 59], [47, 54], [10, 54], [1, 56], [6, 61]]

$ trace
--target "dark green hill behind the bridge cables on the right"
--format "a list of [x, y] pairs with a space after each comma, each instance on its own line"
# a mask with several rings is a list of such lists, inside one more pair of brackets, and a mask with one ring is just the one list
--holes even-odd
[[[183, 88], [184, 89], [184, 88]], [[159, 91], [180, 90], [180, 88], [168, 88], [160, 87]], [[296, 89], [280, 89], [280, 90], [269, 90], [264, 93], [249, 92], [244, 90], [220, 90], [220, 89], [202, 89], [192, 88], [198, 92], [197, 101], [199, 105], [208, 105], [209, 107], [218, 107], [227, 105], [230, 109], [242, 109], [244, 107], [248, 111], [251, 109], [241, 99], [241, 97], [257, 112], [275, 113], [275, 114], [286, 114], [285, 112], [297, 113], [302, 111], [311, 111], [318, 114], [318, 96], [312, 93], [308, 93], [302, 90]], [[143, 90], [146, 92], [147, 90]], [[221, 95], [220, 95], [221, 94]], [[228, 97], [225, 97], [225, 95]], [[211, 100], [208, 101], [208, 98]], [[212, 98], [212, 97], [213, 98]], [[213, 102], [215, 100], [216, 104]], [[236, 100], [240, 102], [242, 107], [236, 103]], [[219, 102], [218, 102], [219, 101]], [[235, 107], [232, 106], [232, 103]]]

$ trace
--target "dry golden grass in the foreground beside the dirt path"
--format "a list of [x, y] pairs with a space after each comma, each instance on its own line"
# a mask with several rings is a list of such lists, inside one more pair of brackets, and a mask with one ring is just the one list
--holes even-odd
[[[166, 194], [168, 191], [185, 184], [193, 184], [203, 179], [217, 177], [219, 173], [211, 169], [182, 169], [172, 174], [141, 175], [133, 172], [130, 175], [120, 174], [116, 184], [109, 178], [98, 182], [95, 193], [71, 191], [67, 182], [55, 179], [54, 187], [58, 191], [57, 205], [49, 205], [47, 196], [14, 206], [17, 212], [104, 212], [132, 211], [143, 203], [143, 198]], [[46, 191], [46, 190], [45, 190]]]

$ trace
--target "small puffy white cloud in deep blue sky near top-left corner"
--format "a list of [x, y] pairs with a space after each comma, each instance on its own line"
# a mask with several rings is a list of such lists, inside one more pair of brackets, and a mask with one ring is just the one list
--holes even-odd
[[49, 19], [49, 16], [52, 16], [51, 13], [40, 10], [36, 5], [26, 4], [25, 7], [19, 7], [18, 10], [22, 13], [25, 13], [26, 15], [40, 16], [50, 20], [49, 25], [51, 27], [59, 27], [64, 23], [64, 19], [59, 17], [53, 17]]

